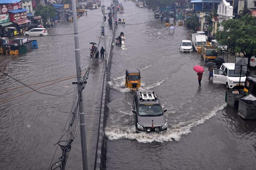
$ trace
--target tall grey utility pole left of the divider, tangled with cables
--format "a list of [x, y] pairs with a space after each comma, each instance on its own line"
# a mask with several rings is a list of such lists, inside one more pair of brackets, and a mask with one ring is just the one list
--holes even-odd
[[81, 147], [82, 147], [82, 161], [83, 170], [88, 170], [87, 162], [87, 147], [86, 147], [86, 133], [85, 133], [85, 113], [84, 104], [82, 98], [82, 78], [81, 78], [81, 63], [80, 63], [80, 50], [79, 50], [79, 39], [78, 39], [78, 28], [77, 28], [77, 8], [76, 1], [72, 0], [72, 11], [73, 11], [73, 23], [74, 23], [74, 39], [75, 39], [75, 57], [76, 57], [76, 70], [77, 70], [77, 88], [78, 95], [81, 93], [79, 103], [79, 120], [80, 120], [80, 135], [81, 135]]

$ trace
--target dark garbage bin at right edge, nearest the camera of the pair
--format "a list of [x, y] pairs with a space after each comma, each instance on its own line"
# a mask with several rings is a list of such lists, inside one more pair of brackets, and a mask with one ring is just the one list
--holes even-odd
[[252, 100], [238, 99], [238, 115], [243, 119], [256, 119], [256, 102]]

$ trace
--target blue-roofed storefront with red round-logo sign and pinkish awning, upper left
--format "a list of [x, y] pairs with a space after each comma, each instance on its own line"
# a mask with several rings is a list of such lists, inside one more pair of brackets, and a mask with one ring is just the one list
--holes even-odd
[[20, 34], [24, 32], [24, 26], [30, 23], [30, 20], [27, 19], [26, 11], [26, 9], [15, 9], [9, 11], [10, 20], [13, 22]]

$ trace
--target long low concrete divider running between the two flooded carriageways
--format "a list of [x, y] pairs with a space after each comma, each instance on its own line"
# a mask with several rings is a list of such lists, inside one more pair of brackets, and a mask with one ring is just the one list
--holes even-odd
[[[116, 12], [115, 17], [116, 19]], [[113, 44], [115, 43], [115, 24], [113, 24], [113, 34], [110, 39], [110, 48], [107, 53], [106, 67], [103, 78], [102, 86], [102, 98], [101, 98], [101, 108], [99, 116], [99, 130], [98, 130], [98, 139], [96, 145], [96, 155], [95, 155], [95, 164], [94, 170], [104, 170], [106, 169], [106, 155], [107, 155], [107, 137], [105, 136], [105, 123], [107, 120], [107, 102], [109, 101], [110, 86], [108, 81], [110, 80], [110, 69], [112, 64], [112, 50]]]

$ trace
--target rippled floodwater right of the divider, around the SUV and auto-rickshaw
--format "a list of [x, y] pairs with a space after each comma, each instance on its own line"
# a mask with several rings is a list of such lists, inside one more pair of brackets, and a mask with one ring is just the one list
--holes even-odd
[[[121, 47], [114, 47], [105, 128], [107, 169], [255, 169], [256, 123], [243, 120], [225, 103], [225, 85], [208, 81], [199, 87], [193, 66], [204, 66], [199, 53], [180, 53], [191, 32], [175, 26], [174, 34], [147, 8], [124, 3], [126, 25]], [[233, 60], [233, 61], [232, 61]], [[229, 62], [234, 58], [229, 58]], [[124, 87], [125, 70], [141, 71], [140, 90], [154, 90], [163, 105], [168, 131], [136, 134], [134, 92]]]

